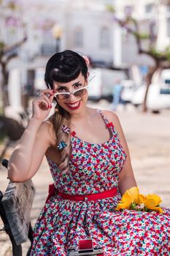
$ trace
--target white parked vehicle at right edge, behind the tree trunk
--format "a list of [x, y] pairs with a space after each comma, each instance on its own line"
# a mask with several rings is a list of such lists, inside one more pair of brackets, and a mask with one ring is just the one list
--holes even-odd
[[[137, 89], [131, 99], [131, 103], [136, 107], [142, 105], [146, 86]], [[157, 80], [154, 80], [149, 87], [147, 94], [147, 108], [153, 112], [162, 109], [170, 109], [170, 69], [163, 69]]]

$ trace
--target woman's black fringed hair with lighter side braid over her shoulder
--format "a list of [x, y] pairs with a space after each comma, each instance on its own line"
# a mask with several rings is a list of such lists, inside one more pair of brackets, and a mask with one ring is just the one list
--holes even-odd
[[[76, 79], [80, 75], [80, 72], [86, 80], [88, 78], [88, 66], [85, 59], [72, 50], [64, 50], [61, 53], [55, 53], [49, 61], [47, 61], [45, 83], [48, 88], [53, 89], [54, 81], [69, 83]], [[55, 113], [51, 120], [56, 136], [56, 149], [60, 157], [58, 168], [62, 173], [69, 171], [69, 157], [71, 153], [70, 134], [64, 133], [62, 128], [63, 125], [66, 127], [70, 126], [70, 118], [69, 113], [61, 108], [60, 105], [57, 104], [55, 106]], [[66, 143], [66, 147], [62, 150], [58, 150], [58, 144], [61, 143], [61, 141]]]

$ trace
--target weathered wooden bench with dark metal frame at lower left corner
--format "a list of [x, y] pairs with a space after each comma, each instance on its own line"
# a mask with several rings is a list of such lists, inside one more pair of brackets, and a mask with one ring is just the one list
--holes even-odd
[[[7, 163], [8, 161], [3, 159], [2, 165], [7, 167]], [[23, 183], [9, 181], [4, 195], [0, 191], [0, 214], [4, 231], [12, 242], [13, 256], [22, 255], [21, 244], [28, 238], [31, 242], [33, 240], [30, 218], [34, 195], [35, 187], [31, 180]]]

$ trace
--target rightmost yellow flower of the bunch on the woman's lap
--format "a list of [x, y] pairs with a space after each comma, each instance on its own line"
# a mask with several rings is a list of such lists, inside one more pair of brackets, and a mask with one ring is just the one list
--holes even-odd
[[147, 195], [146, 200], [144, 201], [144, 206], [152, 211], [159, 211], [161, 214], [163, 213], [159, 204], [161, 203], [161, 197], [158, 195], [152, 194]]

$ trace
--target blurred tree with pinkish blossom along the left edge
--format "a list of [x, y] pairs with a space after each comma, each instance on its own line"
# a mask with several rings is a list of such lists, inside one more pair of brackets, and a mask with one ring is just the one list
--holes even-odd
[[[7, 39], [3, 37], [2, 30], [4, 25], [15, 27], [18, 22], [18, 17], [16, 15], [18, 10], [18, 3], [15, 1], [0, 1], [0, 14], [1, 14], [1, 27], [0, 27], [0, 66], [1, 66], [1, 92], [2, 92], [2, 113], [4, 114], [4, 108], [9, 105], [9, 97], [7, 91], [8, 84], [8, 69], [7, 65], [9, 61], [18, 56], [18, 48], [26, 42], [26, 35], [23, 35], [23, 39], [20, 39], [18, 42], [8, 45]], [[18, 27], [16, 26], [16, 29]]]

